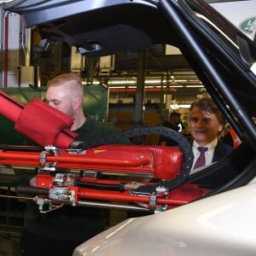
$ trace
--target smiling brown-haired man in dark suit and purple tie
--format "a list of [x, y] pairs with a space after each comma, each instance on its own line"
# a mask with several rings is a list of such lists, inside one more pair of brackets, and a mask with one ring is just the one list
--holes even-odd
[[[190, 133], [193, 137], [194, 163], [190, 174], [230, 154], [232, 147], [218, 140], [225, 119], [209, 97], [193, 102], [189, 113]], [[202, 151], [202, 152], [201, 152]]]

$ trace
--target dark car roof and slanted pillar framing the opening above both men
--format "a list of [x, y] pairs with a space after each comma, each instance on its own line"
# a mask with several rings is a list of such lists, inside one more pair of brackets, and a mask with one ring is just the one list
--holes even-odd
[[226, 119], [256, 147], [255, 43], [204, 1], [15, 0], [4, 8], [83, 55], [177, 46]]

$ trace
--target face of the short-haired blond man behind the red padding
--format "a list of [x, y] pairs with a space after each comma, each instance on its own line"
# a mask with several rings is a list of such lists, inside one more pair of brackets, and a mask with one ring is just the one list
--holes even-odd
[[49, 106], [60, 110], [62, 113], [73, 116], [73, 103], [63, 86], [52, 86], [46, 91], [46, 102]]

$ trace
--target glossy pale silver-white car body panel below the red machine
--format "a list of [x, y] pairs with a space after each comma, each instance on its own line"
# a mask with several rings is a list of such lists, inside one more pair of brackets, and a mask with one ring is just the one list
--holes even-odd
[[81, 255], [241, 256], [256, 252], [256, 184], [129, 218], [77, 247]]

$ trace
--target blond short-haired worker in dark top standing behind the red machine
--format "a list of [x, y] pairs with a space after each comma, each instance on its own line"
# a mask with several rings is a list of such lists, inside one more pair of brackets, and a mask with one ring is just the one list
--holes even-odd
[[[119, 132], [113, 125], [96, 122], [84, 114], [84, 88], [79, 76], [61, 74], [49, 80], [46, 100], [50, 106], [72, 116], [72, 131], [79, 134], [76, 141], [94, 140]], [[130, 143], [128, 139], [117, 143]], [[37, 173], [17, 170], [17, 183], [37, 186]], [[109, 210], [90, 207], [65, 206], [40, 213], [36, 203], [27, 204], [20, 247], [24, 256], [70, 256], [73, 249], [91, 236], [108, 227]]]

